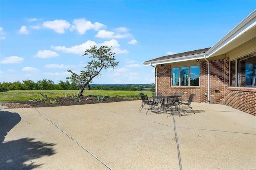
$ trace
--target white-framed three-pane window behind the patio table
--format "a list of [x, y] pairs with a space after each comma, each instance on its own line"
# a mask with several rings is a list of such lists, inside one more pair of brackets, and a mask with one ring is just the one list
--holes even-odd
[[199, 86], [199, 65], [172, 68], [172, 86]]

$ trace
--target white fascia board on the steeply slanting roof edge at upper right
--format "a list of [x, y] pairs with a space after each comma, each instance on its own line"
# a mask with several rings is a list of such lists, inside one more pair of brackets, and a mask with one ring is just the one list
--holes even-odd
[[249, 14], [244, 20], [242, 20], [237, 26], [235, 26], [228, 34], [226, 34], [220, 41], [214, 44], [208, 51], [206, 51], [206, 57], [210, 57], [215, 52], [225, 47], [228, 43], [232, 42], [244, 32], [250, 30], [256, 25], [256, 10]]

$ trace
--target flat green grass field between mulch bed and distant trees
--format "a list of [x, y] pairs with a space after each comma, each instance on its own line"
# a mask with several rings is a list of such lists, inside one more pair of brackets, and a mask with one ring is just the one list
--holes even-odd
[[[10, 90], [0, 92], [0, 101], [23, 101], [42, 97], [46, 95], [49, 98], [64, 97], [67, 94], [72, 96], [74, 93], [78, 93], [79, 90]], [[41, 94], [42, 95], [41, 95]], [[139, 93], [144, 93], [148, 97], [152, 96], [151, 91], [112, 91], [112, 90], [86, 90], [84, 96], [106, 96], [116, 98], [138, 99]], [[38, 96], [37, 96], [38, 95]]]

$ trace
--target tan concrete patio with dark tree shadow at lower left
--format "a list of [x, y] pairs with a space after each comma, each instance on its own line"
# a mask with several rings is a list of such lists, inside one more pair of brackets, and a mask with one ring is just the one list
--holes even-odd
[[166, 117], [140, 105], [2, 109], [0, 169], [256, 169], [255, 116], [192, 102], [196, 114]]

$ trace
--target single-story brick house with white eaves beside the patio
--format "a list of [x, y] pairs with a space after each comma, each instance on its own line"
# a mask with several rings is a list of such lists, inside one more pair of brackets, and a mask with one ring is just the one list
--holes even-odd
[[144, 62], [155, 67], [156, 92], [228, 105], [256, 116], [256, 10], [210, 48]]

